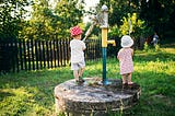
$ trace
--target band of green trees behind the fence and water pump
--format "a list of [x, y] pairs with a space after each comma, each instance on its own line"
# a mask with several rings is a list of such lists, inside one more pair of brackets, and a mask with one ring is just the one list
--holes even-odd
[[[132, 24], [131, 36], [136, 39], [152, 36], [153, 32], [158, 32], [161, 39], [174, 36], [174, 0], [100, 0], [89, 11], [84, 10], [84, 0], [52, 1], [1, 0], [0, 39], [69, 38], [71, 26], [80, 25], [86, 32], [90, 24], [83, 23], [83, 16], [98, 14], [103, 4], [108, 7], [109, 38], [128, 34], [129, 20]], [[95, 30], [92, 35], [98, 36], [100, 33], [100, 30]]]

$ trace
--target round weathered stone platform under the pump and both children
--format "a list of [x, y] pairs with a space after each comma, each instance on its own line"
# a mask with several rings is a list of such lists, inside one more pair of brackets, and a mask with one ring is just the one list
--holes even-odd
[[125, 109], [138, 102], [140, 85], [122, 85], [121, 80], [108, 81], [110, 84], [103, 85], [101, 78], [85, 78], [82, 85], [78, 85], [74, 80], [57, 85], [56, 112], [72, 116], [107, 116], [107, 111]]

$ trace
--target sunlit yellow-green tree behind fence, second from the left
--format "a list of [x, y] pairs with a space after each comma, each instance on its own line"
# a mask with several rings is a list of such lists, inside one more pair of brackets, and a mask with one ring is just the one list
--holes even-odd
[[48, 0], [35, 0], [32, 8], [32, 19], [25, 24], [22, 35], [26, 39], [49, 39], [54, 32], [50, 25], [54, 14]]

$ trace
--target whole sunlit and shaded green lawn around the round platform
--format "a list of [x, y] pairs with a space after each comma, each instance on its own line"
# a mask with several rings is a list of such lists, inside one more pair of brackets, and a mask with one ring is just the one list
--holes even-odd
[[[137, 50], [132, 81], [141, 85], [140, 101], [113, 116], [175, 115], [175, 48]], [[120, 79], [118, 60], [107, 59], [107, 78]], [[86, 62], [84, 77], [102, 77], [102, 61]], [[54, 116], [54, 89], [73, 79], [70, 67], [0, 76], [0, 116]]]

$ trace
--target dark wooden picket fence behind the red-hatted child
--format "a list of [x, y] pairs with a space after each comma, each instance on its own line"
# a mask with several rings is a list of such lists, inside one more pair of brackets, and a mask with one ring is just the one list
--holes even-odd
[[[0, 42], [0, 71], [40, 70], [70, 65], [70, 40]], [[101, 58], [101, 42], [89, 39], [85, 59]]]

